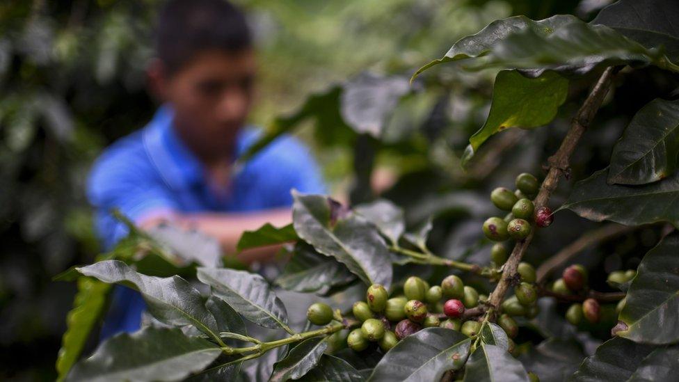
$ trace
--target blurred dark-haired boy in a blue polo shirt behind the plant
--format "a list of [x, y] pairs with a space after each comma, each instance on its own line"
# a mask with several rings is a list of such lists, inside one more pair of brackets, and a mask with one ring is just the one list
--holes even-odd
[[[106, 248], [125, 236], [112, 208], [142, 228], [161, 221], [195, 226], [232, 252], [243, 230], [291, 221], [290, 189], [323, 193], [307, 148], [283, 137], [239, 173], [232, 164], [257, 138], [243, 127], [250, 111], [255, 54], [243, 14], [224, 0], [170, 0], [159, 16], [151, 90], [163, 102], [151, 122], [114, 143], [88, 182], [99, 237]], [[250, 263], [272, 250], [243, 253]], [[102, 338], [136, 331], [145, 305], [115, 289]]]

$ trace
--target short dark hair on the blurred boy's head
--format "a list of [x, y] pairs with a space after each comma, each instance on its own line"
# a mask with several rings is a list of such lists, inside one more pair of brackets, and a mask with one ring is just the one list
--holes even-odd
[[160, 12], [156, 54], [170, 74], [201, 51], [251, 46], [245, 15], [226, 0], [169, 0]]

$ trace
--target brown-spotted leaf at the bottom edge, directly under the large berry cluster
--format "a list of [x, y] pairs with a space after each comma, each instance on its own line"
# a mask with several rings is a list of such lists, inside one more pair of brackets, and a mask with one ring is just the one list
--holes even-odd
[[393, 347], [369, 381], [438, 381], [443, 373], [465, 365], [472, 340], [445, 328], [426, 328]]

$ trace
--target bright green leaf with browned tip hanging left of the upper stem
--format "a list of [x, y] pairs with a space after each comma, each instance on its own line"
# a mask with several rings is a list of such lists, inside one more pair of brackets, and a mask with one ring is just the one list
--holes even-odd
[[493, 134], [510, 127], [539, 127], [552, 122], [566, 101], [568, 80], [555, 72], [529, 79], [516, 70], [502, 70], [495, 77], [490, 113], [478, 132], [469, 139], [463, 155], [467, 163]]

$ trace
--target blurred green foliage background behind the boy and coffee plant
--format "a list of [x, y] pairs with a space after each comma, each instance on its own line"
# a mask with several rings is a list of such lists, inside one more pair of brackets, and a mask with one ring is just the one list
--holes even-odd
[[[408, 79], [417, 67], [445, 54], [458, 38], [495, 19], [570, 13], [588, 20], [610, 1], [234, 2], [248, 12], [257, 38], [260, 74], [251, 122], [266, 127], [277, 116], [298, 109], [308, 95], [326, 94], [336, 84], [365, 78], [360, 73], [366, 70]], [[106, 145], [143, 127], [154, 113], [157, 105], [145, 90], [144, 70], [152, 55], [153, 21], [161, 3], [0, 3], [0, 379], [56, 376], [54, 360], [75, 286], [51, 282], [51, 277], [73, 264], [92, 262], [99, 253], [84, 182], [93, 159]], [[655, 74], [639, 72], [637, 86], [644, 88]], [[392, 118], [392, 125], [384, 129], [388, 134], [382, 136], [386, 143], [381, 150], [367, 150], [372, 166], [355, 166], [362, 159], [355, 159], [361, 152], [354, 143], [370, 148], [374, 138], [344, 140], [340, 133], [328, 134], [336, 120], [323, 125], [328, 119], [317, 116], [315, 129], [302, 125], [294, 134], [314, 147], [337, 195], [353, 193], [352, 201], [365, 199], [356, 184], [370, 178], [372, 170], [386, 169], [391, 174], [387, 182], [398, 179], [399, 187], [384, 195], [406, 205], [410, 223], [446, 206], [473, 209], [479, 199], [461, 198], [459, 193], [452, 198], [445, 192], [477, 186], [498, 166], [497, 157], [490, 157], [463, 174], [458, 161], [468, 136], [486, 118], [494, 75], [460, 74], [442, 67], [435, 75], [424, 76], [413, 90], [420, 94], [399, 101], [404, 103], [403, 115]], [[586, 89], [587, 82], [583, 83], [572, 90]], [[635, 102], [645, 102], [640, 99], [643, 93], [636, 94]], [[573, 106], [564, 109], [568, 116]], [[609, 112], [612, 132], [602, 133], [600, 147], [609, 148], [623, 127], [625, 117], [617, 120], [619, 114]], [[506, 179], [513, 179], [519, 169], [539, 172], [540, 161], [535, 159], [543, 156], [542, 149], [526, 148], [535, 148], [538, 142], [552, 151], [558, 141], [550, 145], [550, 134], [561, 134], [567, 120], [554, 122], [554, 133], [536, 134], [516, 148], [520, 156], [503, 164], [514, 166]], [[521, 138], [520, 133], [514, 136]], [[502, 141], [488, 144], [503, 148]], [[600, 155], [606, 160], [609, 153], [597, 150], [586, 152], [587, 159]], [[426, 190], [422, 179], [429, 185]], [[408, 209], [415, 203], [417, 208]], [[481, 216], [479, 211], [473, 214]], [[477, 234], [478, 222], [469, 224], [466, 230], [473, 228]], [[464, 229], [449, 235], [451, 226], [437, 225], [438, 250], [444, 254], [454, 253], [464, 236]], [[436, 231], [433, 237], [436, 240]]]

